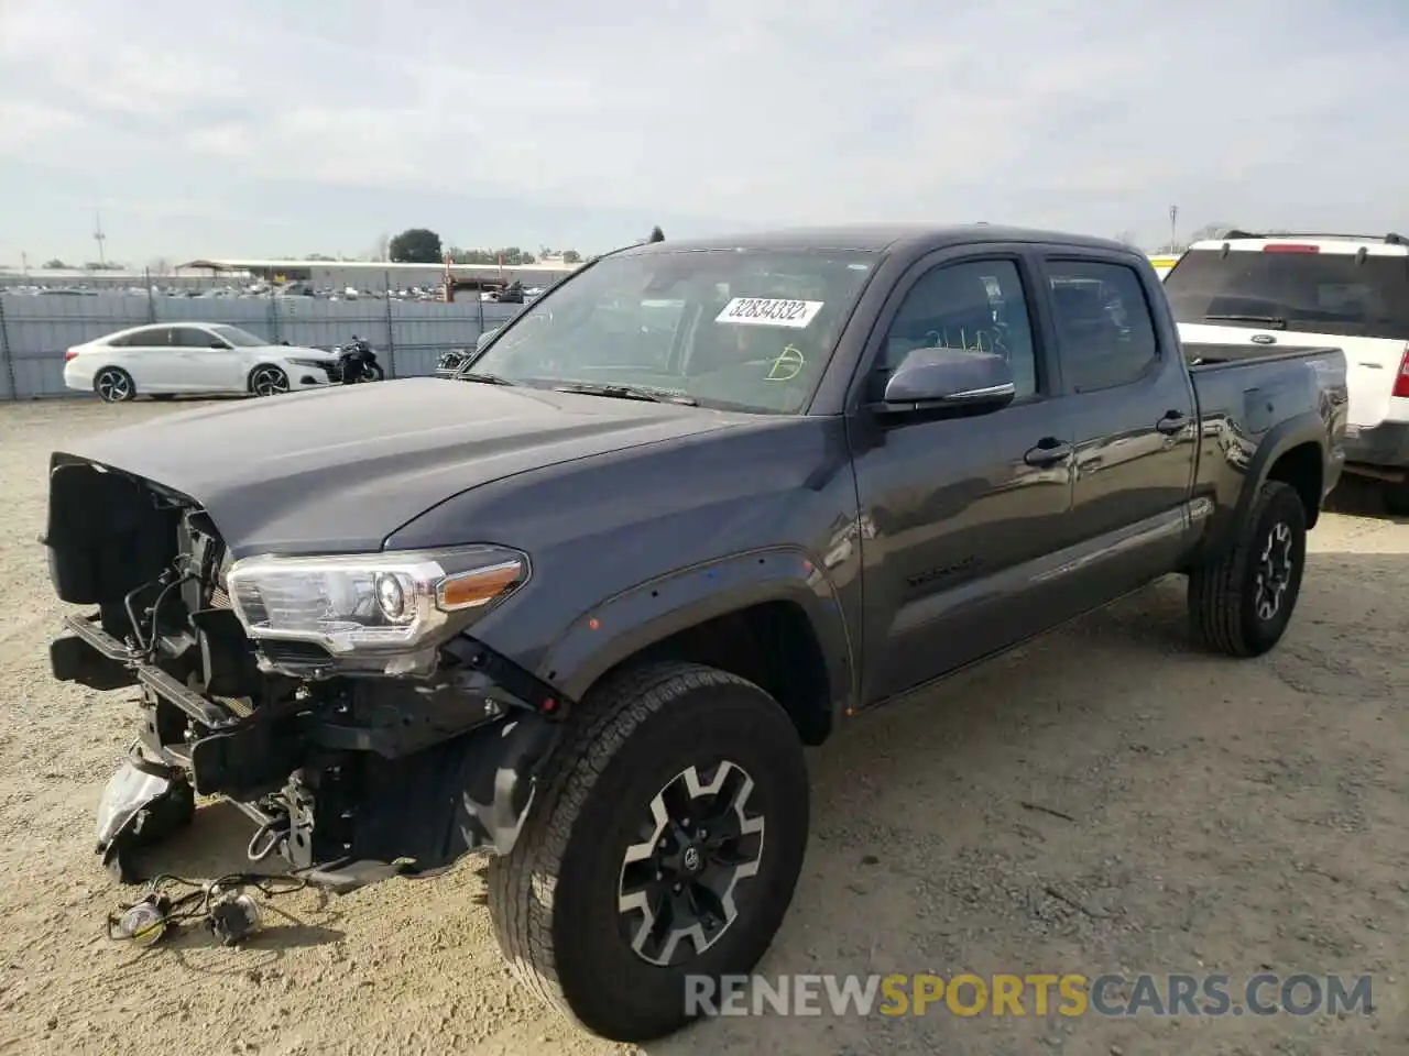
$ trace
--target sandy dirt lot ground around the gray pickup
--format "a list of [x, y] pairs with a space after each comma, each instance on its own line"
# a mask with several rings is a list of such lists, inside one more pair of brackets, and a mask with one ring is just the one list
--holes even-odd
[[[514, 990], [469, 867], [290, 895], [238, 952], [101, 936], [124, 893], [93, 810], [132, 710], [48, 679], [59, 607], [35, 535], [51, 448], [166, 411], [0, 406], [0, 1052], [630, 1052]], [[765, 1017], [648, 1052], [1409, 1050], [1409, 524], [1357, 489], [1334, 504], [1268, 658], [1192, 652], [1171, 580], [814, 752], [809, 859], [761, 970], [1220, 972], [1234, 993], [1265, 970], [1372, 973], [1374, 1015]], [[161, 865], [209, 876], [247, 839], [207, 808]]]

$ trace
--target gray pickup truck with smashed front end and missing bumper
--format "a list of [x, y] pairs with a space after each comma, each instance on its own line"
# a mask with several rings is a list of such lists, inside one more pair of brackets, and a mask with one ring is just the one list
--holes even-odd
[[802, 230], [607, 253], [451, 380], [75, 439], [54, 674], [141, 691], [99, 852], [213, 796], [334, 888], [485, 853], [524, 986], [668, 1033], [783, 919], [805, 745], [1169, 573], [1277, 643], [1346, 362], [1219, 355], [1115, 242]]

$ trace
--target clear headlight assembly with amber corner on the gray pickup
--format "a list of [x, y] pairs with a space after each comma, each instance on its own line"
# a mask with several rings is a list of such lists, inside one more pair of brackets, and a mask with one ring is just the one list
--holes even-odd
[[519, 551], [468, 546], [242, 558], [225, 573], [225, 587], [251, 638], [313, 642], [335, 658], [356, 658], [435, 646], [528, 573]]

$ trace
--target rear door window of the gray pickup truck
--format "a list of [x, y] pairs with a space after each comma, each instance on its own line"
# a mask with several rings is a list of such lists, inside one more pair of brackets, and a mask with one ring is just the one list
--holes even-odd
[[1160, 358], [1154, 321], [1133, 268], [1048, 260], [1062, 376], [1078, 393], [1140, 380]]

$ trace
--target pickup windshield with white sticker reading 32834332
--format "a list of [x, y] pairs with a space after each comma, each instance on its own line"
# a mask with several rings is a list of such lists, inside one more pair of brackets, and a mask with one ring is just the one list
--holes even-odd
[[465, 372], [796, 414], [875, 262], [850, 249], [607, 256], [516, 315]]

